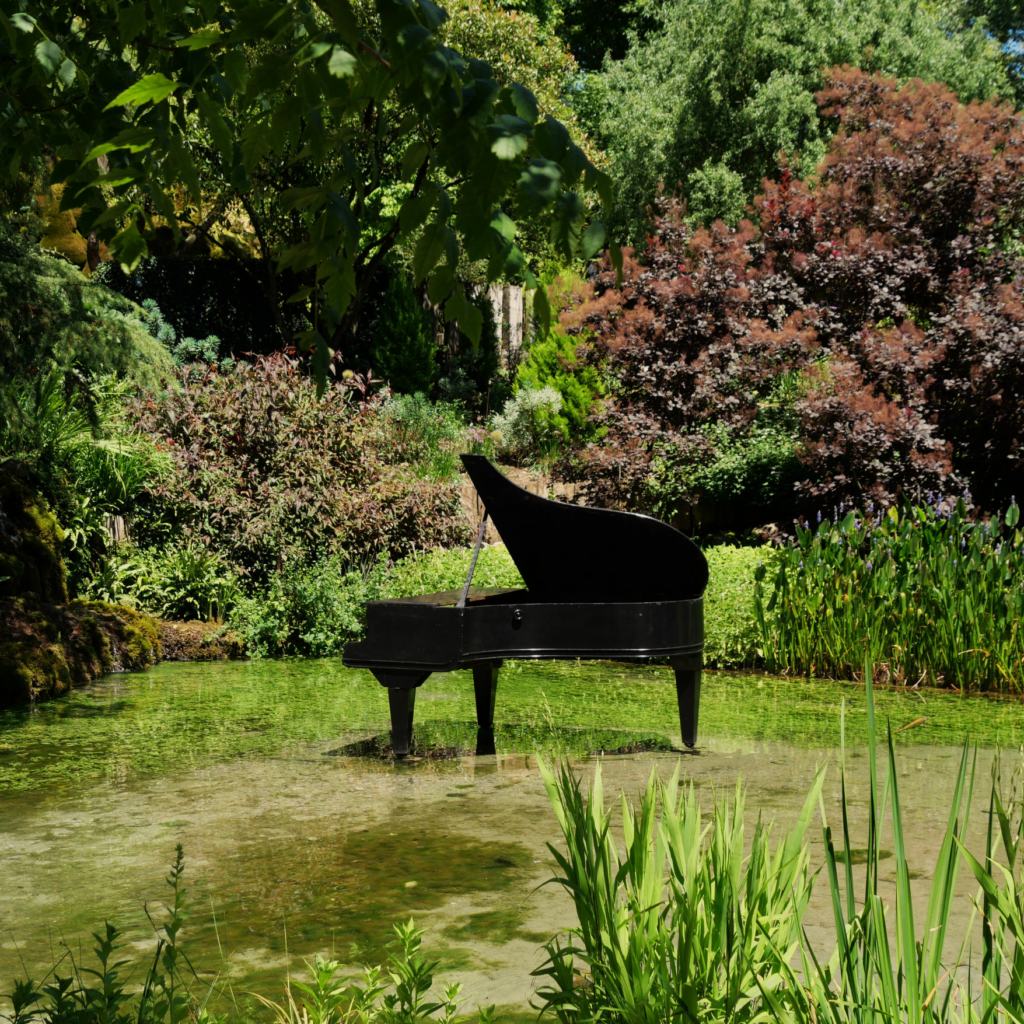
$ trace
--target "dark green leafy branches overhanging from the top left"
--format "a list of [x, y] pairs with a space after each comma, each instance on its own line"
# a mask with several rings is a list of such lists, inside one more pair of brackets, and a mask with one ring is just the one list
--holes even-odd
[[[4, 18], [0, 165], [17, 173], [55, 153], [51, 178], [67, 184], [65, 203], [82, 207], [79, 229], [109, 240], [131, 270], [148, 252], [140, 223], [152, 228], [156, 214], [177, 239], [175, 200], [187, 193], [202, 207], [200, 167], [212, 165], [241, 197], [268, 164], [280, 181], [296, 153], [308, 155], [319, 167], [305, 165], [308, 177], [279, 193], [291, 230], [268, 273], [288, 275], [309, 311], [300, 340], [315, 350], [322, 389], [330, 342], [350, 328], [346, 314], [357, 314], [399, 240], [412, 247], [416, 283], [475, 341], [480, 317], [457, 276], [463, 256], [487, 280], [535, 285], [502, 204], [549, 228], [564, 259], [583, 245], [582, 196], [610, 205], [606, 174], [564, 125], [541, 117], [527, 88], [499, 85], [488, 65], [444, 46], [446, 14], [427, 0], [378, 0], [373, 33], [348, 0], [273, 17], [247, 2], [136, 11], [30, 0]], [[393, 110], [402, 120], [384, 182], [374, 134], [380, 112]], [[408, 185], [397, 216], [366, 231], [377, 226], [370, 198], [396, 177]]]

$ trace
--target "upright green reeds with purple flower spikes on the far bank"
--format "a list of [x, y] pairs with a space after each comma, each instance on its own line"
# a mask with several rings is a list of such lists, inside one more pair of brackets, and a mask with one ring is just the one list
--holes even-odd
[[798, 526], [777, 570], [758, 570], [769, 672], [850, 678], [870, 656], [893, 681], [1024, 684], [1020, 510], [971, 521], [963, 502], [902, 513], [840, 507]]

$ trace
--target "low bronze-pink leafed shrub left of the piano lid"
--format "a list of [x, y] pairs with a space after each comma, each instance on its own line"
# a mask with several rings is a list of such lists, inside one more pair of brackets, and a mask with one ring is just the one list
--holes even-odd
[[216, 548], [251, 582], [288, 559], [400, 558], [469, 541], [458, 492], [389, 465], [372, 447], [373, 410], [340, 385], [317, 399], [285, 355], [185, 367], [180, 387], [140, 394], [134, 415], [174, 461], [140, 524]]

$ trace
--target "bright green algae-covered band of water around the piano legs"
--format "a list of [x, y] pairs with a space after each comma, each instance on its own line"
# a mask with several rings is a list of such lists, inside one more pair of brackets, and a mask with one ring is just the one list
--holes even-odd
[[[499, 753], [553, 756], [666, 749], [679, 742], [672, 673], [662, 666], [511, 662], [496, 714]], [[708, 672], [699, 737], [783, 741], [805, 748], [866, 737], [863, 687]], [[981, 746], [1024, 740], [1024, 702], [941, 690], [876, 691], [880, 720], [899, 744]], [[431, 677], [416, 707], [421, 737], [475, 745], [472, 677]], [[178, 774], [234, 758], [323, 757], [386, 734], [387, 694], [340, 659], [161, 665], [110, 676], [49, 703], [0, 712], [0, 792], [106, 778]]]

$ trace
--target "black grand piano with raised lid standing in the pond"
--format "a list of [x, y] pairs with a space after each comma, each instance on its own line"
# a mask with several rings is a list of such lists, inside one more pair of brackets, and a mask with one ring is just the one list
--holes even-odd
[[[410, 752], [416, 690], [433, 672], [472, 669], [477, 753], [494, 753], [502, 659], [668, 657], [683, 742], [697, 736], [708, 562], [673, 526], [648, 516], [531, 495], [483, 456], [463, 465], [484, 507], [462, 590], [371, 601], [367, 638], [344, 663], [387, 687], [396, 757]], [[473, 587], [489, 516], [525, 590]]]

